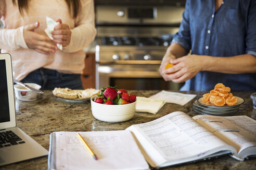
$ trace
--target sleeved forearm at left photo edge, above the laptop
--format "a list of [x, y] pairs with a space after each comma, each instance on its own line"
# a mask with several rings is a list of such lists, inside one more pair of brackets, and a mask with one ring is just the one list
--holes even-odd
[[18, 29], [0, 29], [0, 49], [28, 48], [23, 37], [23, 26]]

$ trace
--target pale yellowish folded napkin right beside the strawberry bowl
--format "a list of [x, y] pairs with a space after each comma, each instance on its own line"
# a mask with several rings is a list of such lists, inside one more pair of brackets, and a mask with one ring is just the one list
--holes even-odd
[[147, 97], [136, 97], [136, 111], [156, 114], [165, 104], [164, 100], [155, 100]]

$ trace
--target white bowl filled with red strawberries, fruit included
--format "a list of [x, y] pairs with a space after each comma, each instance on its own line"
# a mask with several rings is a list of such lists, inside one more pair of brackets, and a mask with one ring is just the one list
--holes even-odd
[[105, 122], [123, 122], [135, 115], [136, 95], [116, 87], [101, 89], [100, 94], [91, 97], [93, 116]]

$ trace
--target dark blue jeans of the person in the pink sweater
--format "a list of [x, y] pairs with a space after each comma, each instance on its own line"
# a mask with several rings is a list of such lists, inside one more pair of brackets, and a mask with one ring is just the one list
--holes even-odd
[[84, 89], [81, 74], [65, 74], [56, 70], [39, 68], [21, 80], [23, 83], [31, 82], [42, 86], [41, 90], [54, 88]]

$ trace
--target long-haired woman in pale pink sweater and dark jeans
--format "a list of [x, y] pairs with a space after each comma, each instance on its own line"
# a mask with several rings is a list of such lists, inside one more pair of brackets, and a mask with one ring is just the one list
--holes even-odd
[[[93, 0], [0, 0], [0, 15], [0, 49], [11, 54], [15, 79], [43, 90], [83, 89], [83, 49], [96, 36]], [[53, 39], [44, 31], [46, 17], [59, 22]]]

